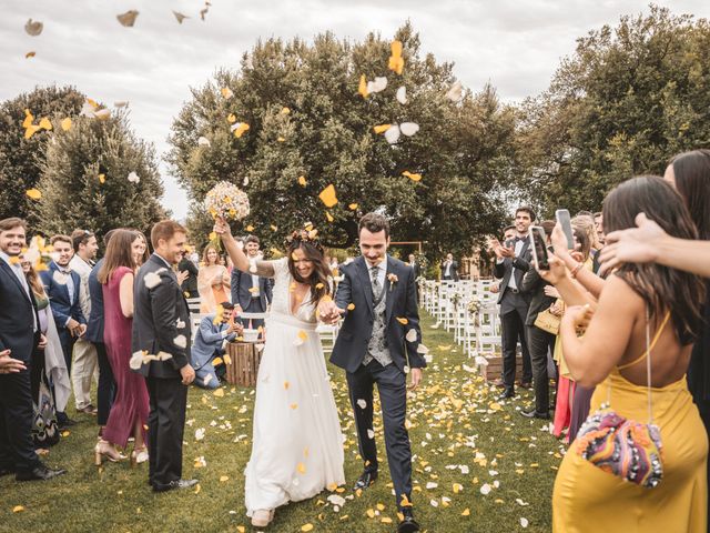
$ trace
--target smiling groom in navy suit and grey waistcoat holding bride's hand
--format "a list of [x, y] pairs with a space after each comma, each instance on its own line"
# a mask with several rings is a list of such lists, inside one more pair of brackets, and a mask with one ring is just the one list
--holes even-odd
[[417, 352], [422, 331], [414, 270], [387, 254], [389, 223], [368, 213], [359, 221], [362, 257], [343, 266], [335, 302], [321, 310], [323, 319], [345, 316], [331, 362], [345, 369], [355, 412], [359, 454], [365, 471], [355, 490], [377, 480], [377, 447], [373, 433], [373, 388], [377, 384], [385, 426], [389, 474], [404, 515], [398, 533], [419, 531], [412, 511], [412, 450], [405, 426], [407, 386], [422, 381], [424, 356]]

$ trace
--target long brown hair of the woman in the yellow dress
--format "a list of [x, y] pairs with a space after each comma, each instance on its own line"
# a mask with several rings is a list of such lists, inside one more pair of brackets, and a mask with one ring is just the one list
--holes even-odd
[[[641, 212], [671, 237], [698, 239], [683, 199], [656, 175], [627, 180], [607, 195], [604, 229], [610, 233], [636, 228]], [[704, 285], [699, 276], [656, 263], [626, 263], [616, 274], [646, 301], [651, 316], [669, 310], [680, 342], [692, 342], [702, 324]]]

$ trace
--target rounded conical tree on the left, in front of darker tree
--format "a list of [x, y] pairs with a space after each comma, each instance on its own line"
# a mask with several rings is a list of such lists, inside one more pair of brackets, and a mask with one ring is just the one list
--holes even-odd
[[[131, 173], [140, 181], [129, 180]], [[39, 228], [48, 234], [75, 228], [99, 237], [113, 228], [148, 232], [166, 214], [155, 151], [131, 131], [126, 112], [75, 118], [68, 131], [55, 124], [38, 188]]]

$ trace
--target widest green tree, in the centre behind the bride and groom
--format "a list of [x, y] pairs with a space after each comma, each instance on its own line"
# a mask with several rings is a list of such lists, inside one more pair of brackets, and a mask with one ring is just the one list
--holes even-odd
[[[387, 69], [389, 41], [371, 34], [351, 43], [325, 33], [313, 43], [260, 41], [239, 70], [220, 70], [192, 90], [174, 120], [166, 159], [192, 198], [197, 242], [210, 228], [200, 202], [220, 180], [248, 193], [252, 214], [244, 225], [253, 225], [266, 247], [278, 247], [306, 221], [327, 244], [349, 247], [367, 211], [388, 215], [396, 240], [428, 241], [432, 254], [468, 251], [476, 235], [499, 224], [497, 194], [509, 179], [514, 111], [491, 87], [447, 99], [453, 66], [423, 57], [409, 24], [395, 39], [404, 46], [402, 76]], [[362, 74], [387, 77], [388, 84], [363, 98]], [[400, 87], [405, 104], [395, 98]], [[250, 130], [236, 138], [231, 120]], [[393, 145], [373, 130], [409, 121], [420, 130]], [[404, 171], [423, 179], [412, 181]], [[326, 213], [318, 193], [331, 183], [339, 203]]]

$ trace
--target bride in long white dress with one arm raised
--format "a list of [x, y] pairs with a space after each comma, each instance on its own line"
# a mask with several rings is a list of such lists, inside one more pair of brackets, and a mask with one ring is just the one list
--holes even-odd
[[245, 471], [246, 515], [264, 527], [277, 506], [345, 483], [341, 423], [315, 331], [317, 304], [329, 295], [329, 270], [307, 231], [293, 232], [287, 257], [251, 263], [224, 221], [214, 231], [234, 268], [275, 280]]

